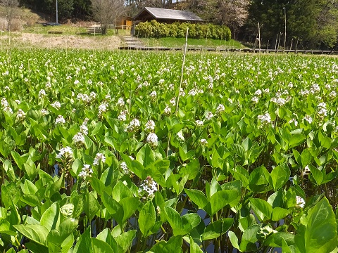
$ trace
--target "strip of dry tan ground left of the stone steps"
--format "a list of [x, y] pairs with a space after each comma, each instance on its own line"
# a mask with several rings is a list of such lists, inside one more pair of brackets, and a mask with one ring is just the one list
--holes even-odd
[[[11, 45], [19, 48], [77, 48], [113, 50], [120, 46], [118, 36], [56, 35], [13, 32]], [[8, 36], [1, 36], [3, 46], [8, 45]]]

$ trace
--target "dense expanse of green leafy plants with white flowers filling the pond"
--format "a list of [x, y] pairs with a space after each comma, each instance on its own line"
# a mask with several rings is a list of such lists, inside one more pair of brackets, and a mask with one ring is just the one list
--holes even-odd
[[337, 252], [337, 58], [0, 59], [1, 252]]

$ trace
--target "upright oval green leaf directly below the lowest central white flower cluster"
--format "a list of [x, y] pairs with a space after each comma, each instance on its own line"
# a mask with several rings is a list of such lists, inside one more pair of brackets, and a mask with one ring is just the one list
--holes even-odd
[[139, 230], [144, 238], [151, 235], [151, 228], [156, 222], [156, 212], [153, 202], [148, 201], [139, 212]]

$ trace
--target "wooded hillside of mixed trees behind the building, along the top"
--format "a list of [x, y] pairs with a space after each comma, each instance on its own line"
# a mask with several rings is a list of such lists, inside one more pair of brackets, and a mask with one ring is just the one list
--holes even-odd
[[[20, 0], [18, 4], [55, 21], [56, 0]], [[97, 21], [93, 4], [112, 6], [108, 10], [114, 18], [133, 17], [145, 6], [192, 11], [206, 22], [227, 25], [234, 39], [251, 44], [257, 41], [259, 23], [261, 46], [269, 48], [277, 44], [286, 48], [338, 47], [337, 0], [58, 0], [59, 22]]]

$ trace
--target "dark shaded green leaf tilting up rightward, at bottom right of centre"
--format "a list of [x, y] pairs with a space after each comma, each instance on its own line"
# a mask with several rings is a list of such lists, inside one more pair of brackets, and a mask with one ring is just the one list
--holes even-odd
[[232, 226], [232, 223], [234, 223], [234, 219], [232, 218], [225, 218], [210, 223], [204, 229], [204, 233], [201, 234], [202, 240], [211, 240], [220, 237], [220, 235], [223, 235], [229, 230], [229, 228]]

